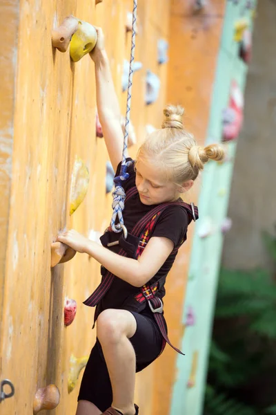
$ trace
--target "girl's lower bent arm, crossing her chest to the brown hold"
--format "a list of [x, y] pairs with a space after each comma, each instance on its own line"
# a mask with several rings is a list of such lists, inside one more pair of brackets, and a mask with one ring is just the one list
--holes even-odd
[[57, 240], [66, 243], [78, 252], [86, 252], [110, 273], [135, 287], [141, 287], [150, 281], [174, 248], [174, 243], [170, 239], [152, 237], [139, 259], [132, 259], [115, 254], [108, 248], [83, 237], [75, 230], [60, 234]]

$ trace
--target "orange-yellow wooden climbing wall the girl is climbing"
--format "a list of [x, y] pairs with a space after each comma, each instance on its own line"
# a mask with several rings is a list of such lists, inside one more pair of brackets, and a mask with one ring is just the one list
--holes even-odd
[[[168, 37], [169, 6], [168, 0], [139, 0], [135, 59], [144, 66], [134, 75], [132, 121], [140, 142], [146, 124], [160, 126], [166, 104], [167, 68], [157, 64], [157, 39]], [[80, 384], [79, 378], [68, 394], [70, 357], [88, 355], [95, 342], [94, 312], [81, 302], [99, 284], [99, 264], [78, 254], [51, 270], [50, 243], [65, 228], [87, 236], [92, 230], [103, 232], [110, 220], [111, 197], [106, 196], [105, 184], [108, 155], [103, 140], [95, 137], [94, 66], [88, 56], [73, 64], [68, 52], [53, 49], [51, 32], [70, 14], [103, 27], [124, 113], [121, 71], [130, 46], [124, 24], [132, 1], [104, 0], [97, 6], [88, 0], [4, 1], [0, 7], [7, 34], [1, 67], [5, 111], [0, 119], [8, 134], [1, 136], [0, 380], [10, 379], [15, 389], [0, 409], [3, 415], [31, 414], [37, 389], [53, 383], [61, 400], [52, 413], [70, 415], [75, 414]], [[147, 69], [162, 83], [159, 100], [150, 107], [144, 104]], [[136, 150], [137, 146], [131, 149], [132, 156]], [[69, 216], [76, 156], [90, 170], [90, 186], [85, 201]], [[77, 301], [75, 321], [67, 328], [66, 296]], [[151, 412], [152, 370], [137, 381], [137, 402], [145, 414]]]

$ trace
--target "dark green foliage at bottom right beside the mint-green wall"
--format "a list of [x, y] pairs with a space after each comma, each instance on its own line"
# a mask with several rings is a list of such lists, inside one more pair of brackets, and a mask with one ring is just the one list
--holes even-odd
[[[276, 238], [262, 236], [276, 264]], [[204, 415], [276, 415], [274, 396], [267, 408], [241, 400], [243, 387], [276, 369], [275, 322], [273, 275], [262, 269], [221, 270]]]

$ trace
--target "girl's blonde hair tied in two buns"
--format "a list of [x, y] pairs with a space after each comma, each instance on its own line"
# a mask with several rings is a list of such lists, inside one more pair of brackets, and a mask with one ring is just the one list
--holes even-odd
[[148, 156], [152, 163], [161, 167], [168, 181], [177, 184], [195, 180], [208, 160], [224, 158], [224, 148], [217, 144], [200, 147], [183, 127], [184, 109], [167, 105], [164, 109], [161, 129], [150, 133], [141, 145], [137, 161]]

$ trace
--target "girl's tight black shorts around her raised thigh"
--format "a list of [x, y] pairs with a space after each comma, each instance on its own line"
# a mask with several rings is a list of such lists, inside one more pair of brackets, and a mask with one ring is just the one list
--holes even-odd
[[[135, 313], [137, 330], [130, 338], [136, 353], [136, 371], [141, 371], [153, 362], [161, 353], [164, 347], [162, 337], [155, 320], [148, 317], [146, 313]], [[89, 400], [94, 403], [102, 412], [112, 404], [112, 388], [108, 375], [108, 368], [103, 358], [103, 352], [99, 340], [96, 341], [86, 369], [81, 380], [78, 400]]]

